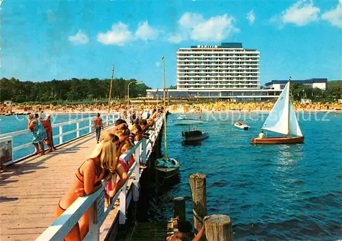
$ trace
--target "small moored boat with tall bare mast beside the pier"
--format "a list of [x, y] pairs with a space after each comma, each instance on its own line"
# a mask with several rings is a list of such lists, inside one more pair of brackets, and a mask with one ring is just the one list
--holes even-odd
[[164, 105], [164, 113], [163, 113], [163, 122], [164, 122], [164, 157], [161, 157], [155, 162], [155, 170], [157, 176], [163, 181], [167, 181], [171, 177], [178, 175], [179, 167], [181, 164], [171, 157], [168, 157], [168, 142], [167, 142], [167, 129], [166, 129], [166, 99], [165, 99], [165, 62], [164, 56], [161, 58], [163, 61], [163, 105]]

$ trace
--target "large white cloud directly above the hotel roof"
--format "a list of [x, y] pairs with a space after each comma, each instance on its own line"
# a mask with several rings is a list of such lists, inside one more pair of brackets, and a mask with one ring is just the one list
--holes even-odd
[[185, 12], [179, 19], [179, 30], [169, 37], [170, 42], [182, 40], [221, 41], [239, 32], [233, 25], [234, 18], [227, 14], [203, 18], [202, 14]]

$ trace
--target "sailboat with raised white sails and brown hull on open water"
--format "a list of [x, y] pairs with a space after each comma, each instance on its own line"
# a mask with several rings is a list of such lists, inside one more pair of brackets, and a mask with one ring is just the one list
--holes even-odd
[[302, 131], [300, 131], [297, 117], [295, 117], [289, 92], [290, 81], [287, 82], [284, 90], [282, 90], [276, 104], [261, 128], [285, 136], [253, 138], [251, 141], [252, 144], [290, 144], [304, 142], [304, 136], [302, 135]]

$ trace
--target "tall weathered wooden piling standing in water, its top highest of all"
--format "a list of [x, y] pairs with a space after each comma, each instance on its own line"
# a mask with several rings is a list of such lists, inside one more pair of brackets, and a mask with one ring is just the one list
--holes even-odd
[[194, 214], [195, 233], [203, 225], [203, 218], [207, 215], [207, 187], [206, 176], [202, 173], [189, 175], [189, 185], [192, 191], [192, 212]]

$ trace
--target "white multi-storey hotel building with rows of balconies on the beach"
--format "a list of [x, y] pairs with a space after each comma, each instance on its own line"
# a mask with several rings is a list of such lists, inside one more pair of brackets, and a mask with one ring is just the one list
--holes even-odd
[[[169, 97], [265, 101], [280, 94], [260, 88], [260, 52], [239, 42], [181, 48], [176, 58], [177, 89]], [[162, 95], [162, 89], [147, 90], [147, 97]]]

